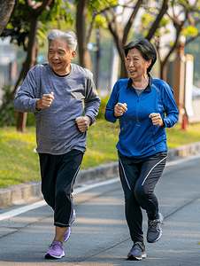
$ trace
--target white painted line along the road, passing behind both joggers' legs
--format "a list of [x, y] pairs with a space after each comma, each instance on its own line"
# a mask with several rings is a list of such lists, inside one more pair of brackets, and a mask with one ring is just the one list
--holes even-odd
[[[169, 167], [169, 166], [172, 166], [172, 165], [177, 165], [177, 164], [181, 164], [181, 163], [185, 163], [189, 160], [194, 160], [194, 159], [197, 159], [197, 158], [200, 158], [200, 154], [197, 154], [197, 155], [194, 155], [194, 156], [190, 156], [190, 157], [187, 157], [187, 158], [182, 158], [182, 159], [178, 159], [178, 160], [173, 160], [173, 161], [169, 161], [166, 163], [166, 167]], [[97, 182], [97, 183], [94, 183], [94, 184], [83, 184], [81, 187], [77, 187], [73, 190], [73, 194], [80, 194], [82, 192], [86, 192], [90, 189], [93, 189], [93, 188], [96, 188], [96, 187], [99, 187], [99, 186], [102, 186], [102, 185], [107, 185], [107, 184], [114, 184], [116, 182], [119, 182], [119, 177], [116, 177], [116, 178], [111, 178], [111, 179], [108, 179], [108, 180], [104, 180], [104, 181], [101, 181], [101, 182]], [[35, 202], [33, 204], [30, 204], [30, 205], [27, 205], [27, 206], [24, 206], [24, 207], [18, 207], [16, 209], [13, 209], [9, 212], [5, 212], [3, 214], [0, 215], [0, 221], [4, 220], [4, 219], [9, 219], [9, 218], [12, 218], [14, 216], [17, 216], [17, 215], [21, 215], [23, 213], [26, 213], [32, 209], [35, 209], [35, 208], [38, 208], [38, 207], [43, 207], [47, 205], [46, 202], [44, 200], [41, 200], [41, 201], [38, 201], [38, 202]]]

